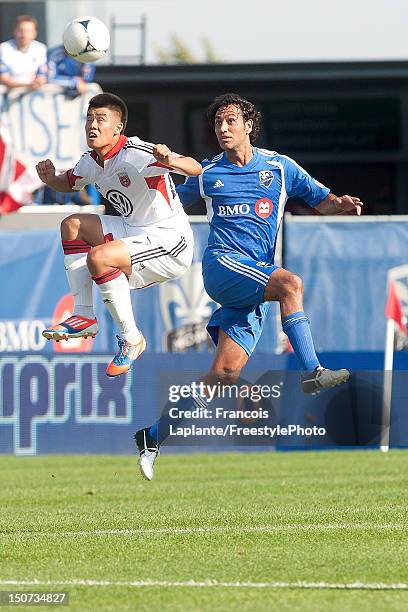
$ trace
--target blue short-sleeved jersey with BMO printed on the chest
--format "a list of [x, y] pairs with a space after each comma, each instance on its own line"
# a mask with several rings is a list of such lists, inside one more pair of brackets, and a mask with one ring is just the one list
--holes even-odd
[[311, 207], [329, 193], [295, 161], [275, 151], [254, 148], [245, 166], [225, 153], [202, 162], [203, 173], [177, 188], [184, 207], [202, 198], [210, 223], [209, 248], [239, 251], [273, 261], [276, 236], [288, 197]]

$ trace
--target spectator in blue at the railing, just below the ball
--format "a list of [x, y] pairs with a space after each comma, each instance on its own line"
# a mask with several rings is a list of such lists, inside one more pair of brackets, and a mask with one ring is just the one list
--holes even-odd
[[66, 53], [63, 45], [48, 51], [48, 70], [48, 82], [61, 85], [72, 98], [85, 93], [95, 75], [94, 64], [77, 62]]

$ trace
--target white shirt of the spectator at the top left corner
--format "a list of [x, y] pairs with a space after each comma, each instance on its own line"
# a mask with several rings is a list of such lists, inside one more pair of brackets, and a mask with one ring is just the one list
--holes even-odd
[[37, 75], [47, 74], [47, 47], [33, 40], [26, 51], [20, 51], [14, 38], [1, 43], [0, 74], [28, 85]]

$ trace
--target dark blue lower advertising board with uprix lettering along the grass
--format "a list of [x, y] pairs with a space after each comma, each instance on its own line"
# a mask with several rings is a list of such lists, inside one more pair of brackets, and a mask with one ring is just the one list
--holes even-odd
[[[200, 392], [197, 381], [209, 355], [144, 354], [115, 379], [105, 374], [110, 359], [21, 353], [3, 358], [0, 453], [132, 453], [134, 432], [161, 414], [168, 417], [164, 448], [170, 452], [379, 444], [382, 371], [357, 370], [346, 385], [307, 396], [299, 372], [286, 369], [289, 357], [258, 355], [237, 385], [225, 393], [214, 386], [207, 408], [186, 413], [177, 402], [192, 383]], [[391, 446], [408, 446], [407, 377], [406, 370], [394, 372]]]

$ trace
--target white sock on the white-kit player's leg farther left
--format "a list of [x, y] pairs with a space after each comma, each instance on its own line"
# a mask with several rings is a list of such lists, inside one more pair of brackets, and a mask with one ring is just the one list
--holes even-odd
[[68, 284], [75, 300], [73, 314], [86, 319], [95, 319], [92, 276], [86, 265], [86, 253], [64, 255], [64, 265]]

